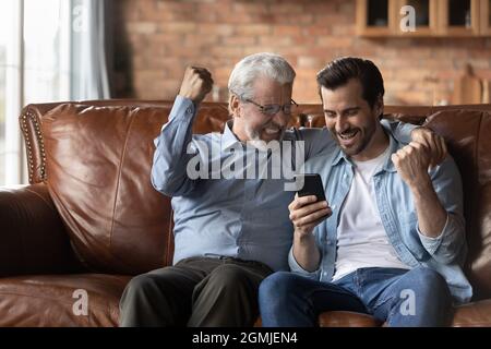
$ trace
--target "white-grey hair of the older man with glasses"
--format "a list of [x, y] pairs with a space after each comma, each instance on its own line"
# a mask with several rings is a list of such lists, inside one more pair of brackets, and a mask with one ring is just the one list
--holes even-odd
[[243, 58], [233, 68], [228, 80], [230, 96], [237, 95], [241, 99], [254, 98], [253, 84], [258, 77], [268, 77], [277, 83], [291, 84], [295, 70], [285, 58], [279, 55], [261, 52]]

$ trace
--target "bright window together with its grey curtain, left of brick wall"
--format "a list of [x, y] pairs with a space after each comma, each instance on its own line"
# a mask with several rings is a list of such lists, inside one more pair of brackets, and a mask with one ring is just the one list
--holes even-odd
[[0, 1], [0, 186], [27, 182], [21, 107], [110, 98], [106, 14], [103, 0]]

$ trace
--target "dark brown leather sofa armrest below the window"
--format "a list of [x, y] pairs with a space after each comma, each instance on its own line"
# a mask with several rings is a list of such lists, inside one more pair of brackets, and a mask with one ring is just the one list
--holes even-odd
[[47, 185], [0, 188], [0, 277], [77, 269]]

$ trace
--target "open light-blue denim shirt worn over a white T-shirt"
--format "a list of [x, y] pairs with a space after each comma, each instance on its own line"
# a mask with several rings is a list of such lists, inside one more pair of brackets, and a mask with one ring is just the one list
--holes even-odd
[[[433, 188], [447, 212], [446, 224], [436, 238], [421, 233], [409, 186], [397, 173], [391, 155], [405, 144], [390, 136], [390, 152], [381, 169], [373, 176], [375, 202], [385, 232], [398, 257], [410, 267], [424, 266], [439, 272], [447, 281], [458, 303], [470, 300], [472, 289], [462, 266], [467, 252], [460, 174], [454, 160], [447, 158], [430, 176]], [[320, 173], [333, 215], [314, 229], [322, 260], [318, 270], [309, 273], [289, 253], [292, 272], [331, 281], [335, 272], [337, 226], [343, 203], [354, 179], [354, 165], [340, 148], [324, 152], [306, 163], [306, 171]]]

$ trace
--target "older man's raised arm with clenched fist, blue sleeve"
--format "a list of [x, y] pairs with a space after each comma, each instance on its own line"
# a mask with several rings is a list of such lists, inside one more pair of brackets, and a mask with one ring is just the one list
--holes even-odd
[[[188, 161], [197, 153], [192, 147], [192, 127], [200, 103], [213, 86], [212, 75], [203, 68], [188, 68], [169, 121], [155, 139], [152, 184], [168, 196], [182, 195], [193, 188], [187, 176]], [[194, 153], [194, 154], [193, 154]]]

